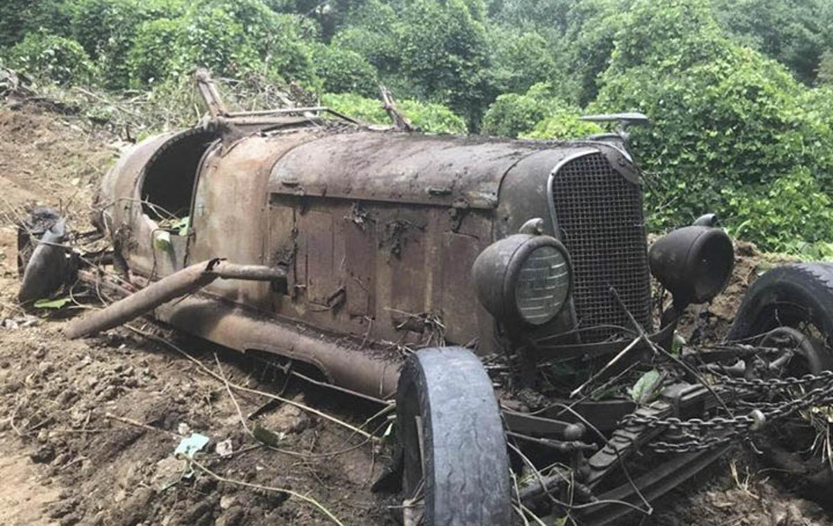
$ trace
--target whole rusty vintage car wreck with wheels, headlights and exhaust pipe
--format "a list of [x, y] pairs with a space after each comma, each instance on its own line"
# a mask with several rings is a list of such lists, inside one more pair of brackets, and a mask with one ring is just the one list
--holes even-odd
[[674, 345], [686, 308], [726, 286], [733, 245], [704, 216], [649, 249], [621, 133], [380, 130], [327, 108], [232, 113], [206, 73], [198, 85], [202, 123], [103, 179], [96, 224], [121, 280], [72, 263], [41, 210], [21, 234], [21, 300], [67, 275], [109, 283], [125, 298], [69, 337], [152, 311], [395, 399], [388, 478], [407, 524], [651, 513], [731, 443], [833, 401], [830, 264], [771, 270], [725, 342]]

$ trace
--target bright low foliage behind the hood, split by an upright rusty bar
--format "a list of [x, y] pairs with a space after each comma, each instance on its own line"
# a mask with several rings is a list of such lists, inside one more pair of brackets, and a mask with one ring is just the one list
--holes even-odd
[[[337, 112], [367, 123], [391, 123], [382, 101], [364, 98], [355, 93], [327, 93], [322, 97], [322, 103]], [[463, 119], [441, 104], [402, 100], [397, 102], [397, 106], [411, 123], [423, 132], [456, 135], [467, 132]]]

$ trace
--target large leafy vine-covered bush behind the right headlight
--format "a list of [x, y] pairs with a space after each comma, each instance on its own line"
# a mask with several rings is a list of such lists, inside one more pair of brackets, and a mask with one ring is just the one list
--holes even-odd
[[[737, 228], [751, 210], [766, 208], [761, 203], [776, 203], [770, 188], [787, 194], [798, 184], [811, 192], [806, 177], [818, 184], [814, 198], [833, 189], [833, 133], [819, 113], [802, 108], [806, 89], [786, 68], [724, 38], [707, 5], [637, 1], [601, 80], [597, 108], [638, 109], [653, 122], [634, 131], [632, 146], [651, 175], [654, 229], [707, 211]], [[651, 44], [652, 35], [673, 45]], [[804, 205], [779, 203], [780, 221], [747, 223], [746, 235], [763, 248], [781, 249], [786, 239], [830, 232], [807, 220]]]

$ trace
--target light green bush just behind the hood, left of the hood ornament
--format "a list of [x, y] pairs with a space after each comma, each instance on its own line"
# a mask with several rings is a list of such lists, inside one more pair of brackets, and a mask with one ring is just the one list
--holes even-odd
[[482, 132], [510, 138], [576, 138], [601, 128], [578, 120], [579, 111], [557, 98], [548, 83], [538, 83], [519, 95], [506, 93], [491, 104]]

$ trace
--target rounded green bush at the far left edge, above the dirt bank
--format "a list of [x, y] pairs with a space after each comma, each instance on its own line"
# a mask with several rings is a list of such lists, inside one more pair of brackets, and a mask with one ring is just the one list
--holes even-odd
[[58, 84], [89, 83], [95, 74], [81, 44], [45, 31], [28, 33], [3, 58], [10, 68]]

